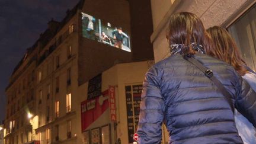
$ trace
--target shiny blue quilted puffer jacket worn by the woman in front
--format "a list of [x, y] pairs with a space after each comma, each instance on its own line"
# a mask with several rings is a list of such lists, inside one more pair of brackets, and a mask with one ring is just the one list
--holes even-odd
[[[233, 104], [256, 126], [256, 93], [232, 66], [213, 57], [194, 55], [233, 96]], [[145, 75], [139, 143], [161, 143], [164, 122], [169, 143], [242, 143], [233, 111], [215, 84], [181, 55], [156, 63]]]

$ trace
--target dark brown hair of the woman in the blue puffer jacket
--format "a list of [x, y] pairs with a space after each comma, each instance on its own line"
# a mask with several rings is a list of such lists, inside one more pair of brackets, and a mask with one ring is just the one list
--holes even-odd
[[200, 18], [190, 12], [180, 12], [171, 15], [167, 31], [169, 44], [184, 44], [187, 47], [184, 53], [194, 54], [191, 43], [208, 47], [206, 30]]

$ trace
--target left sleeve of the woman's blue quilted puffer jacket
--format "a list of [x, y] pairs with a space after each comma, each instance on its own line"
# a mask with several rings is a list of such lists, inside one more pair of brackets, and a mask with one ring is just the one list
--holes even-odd
[[137, 127], [140, 144], [161, 143], [165, 105], [159, 89], [159, 79], [161, 76], [155, 68], [149, 69], [145, 75]]

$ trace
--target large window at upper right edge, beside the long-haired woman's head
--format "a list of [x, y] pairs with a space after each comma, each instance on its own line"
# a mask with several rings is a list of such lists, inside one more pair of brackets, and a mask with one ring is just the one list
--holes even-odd
[[242, 58], [247, 65], [256, 70], [256, 4], [228, 27], [229, 33], [236, 41]]

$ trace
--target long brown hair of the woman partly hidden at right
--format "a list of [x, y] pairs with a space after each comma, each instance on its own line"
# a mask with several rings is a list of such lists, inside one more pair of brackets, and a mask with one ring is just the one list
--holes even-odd
[[208, 28], [207, 33], [212, 40], [212, 47], [206, 50], [207, 54], [229, 63], [239, 75], [245, 75], [247, 73], [246, 63], [242, 60], [238, 47], [228, 31], [225, 28], [214, 26]]

